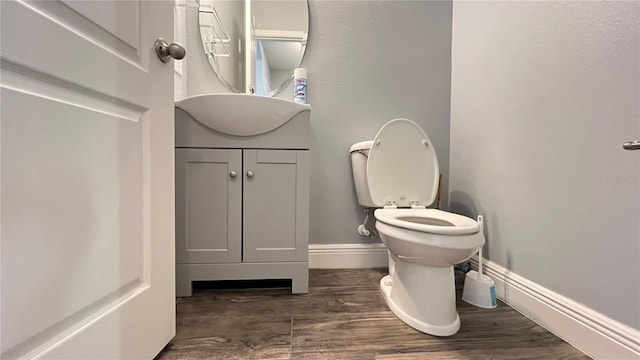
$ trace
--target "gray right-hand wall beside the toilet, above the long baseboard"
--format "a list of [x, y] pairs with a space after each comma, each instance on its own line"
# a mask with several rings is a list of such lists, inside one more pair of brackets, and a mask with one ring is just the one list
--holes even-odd
[[452, 211], [488, 257], [640, 328], [640, 3], [456, 2]]

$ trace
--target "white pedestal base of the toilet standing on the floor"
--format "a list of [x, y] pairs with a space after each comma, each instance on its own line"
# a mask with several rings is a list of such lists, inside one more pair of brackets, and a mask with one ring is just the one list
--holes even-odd
[[[380, 291], [389, 309], [400, 320], [435, 336], [451, 336], [460, 330], [453, 267], [426, 267], [395, 261], [394, 270], [393, 275], [380, 280]], [[403, 277], [405, 272], [409, 276]]]

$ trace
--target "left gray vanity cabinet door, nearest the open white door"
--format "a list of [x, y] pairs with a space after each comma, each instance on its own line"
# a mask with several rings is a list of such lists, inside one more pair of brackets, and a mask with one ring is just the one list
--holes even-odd
[[176, 263], [237, 263], [242, 150], [176, 149]]

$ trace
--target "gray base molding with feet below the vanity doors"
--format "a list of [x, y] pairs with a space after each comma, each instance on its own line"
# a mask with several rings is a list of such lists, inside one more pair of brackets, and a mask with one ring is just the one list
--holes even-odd
[[291, 279], [291, 292], [309, 292], [309, 262], [176, 264], [176, 296], [191, 296], [192, 281]]

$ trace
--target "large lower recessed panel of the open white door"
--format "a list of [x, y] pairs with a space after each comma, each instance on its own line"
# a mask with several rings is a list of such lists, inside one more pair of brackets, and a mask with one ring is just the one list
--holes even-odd
[[13, 311], [2, 340], [14, 347], [140, 283], [142, 126], [18, 91], [2, 98], [2, 267], [20, 274], [3, 277]]

